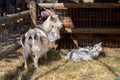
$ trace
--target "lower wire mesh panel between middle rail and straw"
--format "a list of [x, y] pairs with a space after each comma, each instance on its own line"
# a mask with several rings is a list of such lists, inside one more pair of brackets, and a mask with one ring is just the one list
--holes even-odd
[[102, 46], [111, 48], [120, 48], [119, 34], [61, 34], [61, 39], [58, 41], [59, 48], [73, 49], [75, 44], [71, 36], [78, 41], [79, 47], [93, 46], [102, 42]]

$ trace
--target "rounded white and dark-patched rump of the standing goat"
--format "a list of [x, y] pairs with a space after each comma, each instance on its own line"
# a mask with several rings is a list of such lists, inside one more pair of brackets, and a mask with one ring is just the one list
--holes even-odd
[[24, 54], [38, 55], [40, 57], [48, 51], [48, 37], [42, 29], [30, 29], [22, 36], [21, 42]]

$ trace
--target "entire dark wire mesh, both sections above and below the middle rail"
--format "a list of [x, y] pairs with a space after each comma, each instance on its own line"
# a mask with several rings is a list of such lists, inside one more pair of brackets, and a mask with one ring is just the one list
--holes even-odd
[[[62, 21], [65, 27], [88, 29], [120, 29], [120, 8], [68, 8], [58, 10], [62, 13]], [[95, 30], [95, 29], [94, 29]], [[91, 30], [93, 31], [93, 30]], [[94, 31], [93, 31], [94, 32]], [[120, 35], [111, 34], [62, 34], [60, 46], [74, 48], [71, 36], [74, 37], [80, 47], [92, 46], [103, 42], [107, 47], [120, 47]]]

